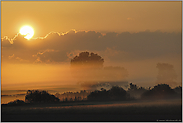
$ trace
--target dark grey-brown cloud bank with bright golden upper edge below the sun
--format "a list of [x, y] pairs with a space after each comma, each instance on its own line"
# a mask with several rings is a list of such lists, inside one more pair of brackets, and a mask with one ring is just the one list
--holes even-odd
[[[39, 54], [48, 49], [54, 52]], [[29, 41], [19, 34], [13, 39], [2, 38], [2, 59], [9, 62], [13, 60], [9, 59], [9, 56], [14, 54], [30, 63], [37, 59], [42, 62], [50, 60], [50, 63], [59, 63], [68, 61], [68, 58], [71, 58], [68, 54], [86, 50], [106, 56], [104, 61], [105, 58], [113, 61], [135, 61], [161, 56], [171, 57], [175, 54], [181, 57], [181, 33], [144, 31], [103, 34], [72, 30], [67, 33], [51, 32], [45, 37]]]

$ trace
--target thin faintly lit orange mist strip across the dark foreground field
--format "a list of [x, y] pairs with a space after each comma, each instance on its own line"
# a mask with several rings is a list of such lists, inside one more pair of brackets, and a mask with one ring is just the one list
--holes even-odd
[[94, 108], [119, 108], [119, 107], [146, 107], [146, 106], [171, 106], [171, 105], [181, 105], [181, 100], [159, 100], [159, 101], [144, 101], [144, 102], [106, 102], [101, 103], [85, 103], [85, 104], [67, 104], [61, 106], [50, 106], [50, 107], [34, 107], [29, 109], [34, 110], [60, 110], [60, 109], [94, 109]]

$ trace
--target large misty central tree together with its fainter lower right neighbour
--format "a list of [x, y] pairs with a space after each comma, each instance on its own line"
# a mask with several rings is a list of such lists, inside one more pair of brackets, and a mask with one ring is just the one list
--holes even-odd
[[128, 76], [124, 67], [103, 67], [103, 63], [104, 59], [98, 54], [81, 52], [71, 59], [72, 76], [80, 83], [123, 81]]

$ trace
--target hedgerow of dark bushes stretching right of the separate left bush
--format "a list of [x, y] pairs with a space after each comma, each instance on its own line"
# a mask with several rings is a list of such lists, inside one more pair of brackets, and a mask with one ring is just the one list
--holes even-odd
[[57, 93], [55, 96], [64, 102], [68, 101], [117, 101], [131, 99], [164, 99], [181, 98], [182, 87], [171, 89], [167, 84], [158, 84], [152, 88], [144, 88], [130, 83], [128, 90], [119, 86], [112, 86], [111, 89], [95, 90], [93, 92], [81, 90], [80, 92]]

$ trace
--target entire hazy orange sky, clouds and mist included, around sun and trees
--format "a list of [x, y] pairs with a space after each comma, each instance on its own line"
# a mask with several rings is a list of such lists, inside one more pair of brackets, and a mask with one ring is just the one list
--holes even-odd
[[[180, 85], [181, 5], [3, 1], [2, 87], [74, 85], [70, 60], [82, 51], [99, 54], [104, 66], [125, 68], [126, 80], [141, 86], [156, 83], [158, 63], [172, 65], [177, 75], [174, 81]], [[33, 39], [18, 34], [23, 25], [34, 28]]]

